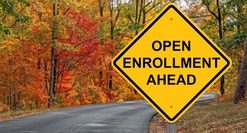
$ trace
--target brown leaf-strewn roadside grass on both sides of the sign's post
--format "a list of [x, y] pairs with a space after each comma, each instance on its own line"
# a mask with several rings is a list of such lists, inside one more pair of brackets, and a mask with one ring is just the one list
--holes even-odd
[[[207, 102], [191, 107], [176, 123], [179, 133], [247, 133], [247, 103]], [[150, 133], [165, 133], [160, 115], [150, 121]]]

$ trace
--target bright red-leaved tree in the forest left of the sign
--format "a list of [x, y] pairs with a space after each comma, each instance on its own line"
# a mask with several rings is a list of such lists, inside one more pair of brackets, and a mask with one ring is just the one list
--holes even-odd
[[69, 99], [72, 97], [81, 99], [83, 89], [87, 88], [89, 84], [87, 82], [90, 82], [89, 75], [97, 71], [95, 70], [97, 58], [92, 56], [97, 54], [100, 41], [97, 38], [96, 21], [89, 19], [83, 12], [70, 11], [67, 15], [69, 21], [73, 21], [74, 24], [65, 25], [66, 37], [58, 36], [55, 82], [58, 94], [74, 92], [72, 93], [74, 96], [71, 94], [64, 97], [66, 99], [64, 101], [72, 103]]

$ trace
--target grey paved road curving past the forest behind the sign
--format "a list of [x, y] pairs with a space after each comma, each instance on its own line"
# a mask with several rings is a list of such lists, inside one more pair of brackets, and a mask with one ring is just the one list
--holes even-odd
[[[206, 94], [201, 100], [210, 100]], [[0, 122], [0, 133], [147, 133], [156, 111], [146, 101], [96, 104]]]

